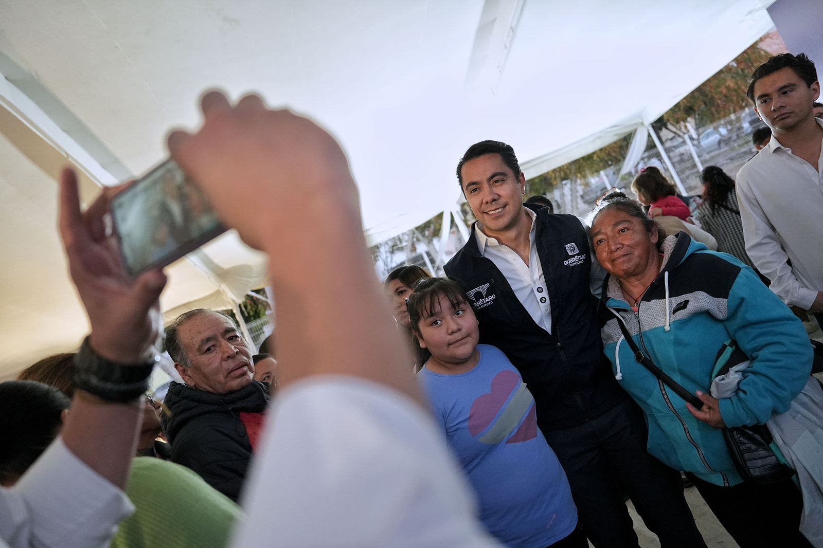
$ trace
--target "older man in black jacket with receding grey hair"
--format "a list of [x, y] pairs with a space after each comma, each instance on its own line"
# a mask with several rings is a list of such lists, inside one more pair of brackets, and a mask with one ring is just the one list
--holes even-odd
[[172, 383], [165, 397], [171, 460], [236, 501], [268, 399], [252, 379], [249, 347], [230, 318], [207, 309], [181, 314], [165, 337], [185, 383]]

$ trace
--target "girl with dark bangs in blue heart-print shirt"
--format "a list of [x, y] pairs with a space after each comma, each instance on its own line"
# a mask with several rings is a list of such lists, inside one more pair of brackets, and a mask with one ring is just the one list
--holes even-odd
[[409, 324], [431, 357], [420, 372], [437, 420], [472, 483], [486, 529], [506, 546], [584, 548], [569, 481], [542, 432], [532, 394], [454, 281], [420, 281]]

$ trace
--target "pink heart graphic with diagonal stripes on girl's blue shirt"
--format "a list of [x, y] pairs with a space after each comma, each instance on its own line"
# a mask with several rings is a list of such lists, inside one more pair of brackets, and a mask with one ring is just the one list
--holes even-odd
[[491, 392], [472, 403], [468, 431], [472, 436], [479, 435], [478, 441], [483, 444], [518, 444], [534, 439], [537, 437], [534, 407], [532, 394], [520, 375], [501, 371], [491, 380]]

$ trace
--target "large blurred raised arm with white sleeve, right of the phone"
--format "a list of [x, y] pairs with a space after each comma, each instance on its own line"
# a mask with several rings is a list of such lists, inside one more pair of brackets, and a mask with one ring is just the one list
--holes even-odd
[[346, 157], [255, 95], [202, 99], [172, 156], [270, 258], [280, 392], [235, 546], [498, 546], [412, 376], [370, 262]]

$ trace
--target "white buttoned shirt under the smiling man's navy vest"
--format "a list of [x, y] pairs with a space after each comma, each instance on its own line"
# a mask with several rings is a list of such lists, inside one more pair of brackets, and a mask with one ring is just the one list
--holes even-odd
[[480, 254], [495, 263], [495, 267], [509, 281], [514, 295], [517, 295], [517, 299], [528, 311], [528, 315], [537, 325], [551, 333], [551, 302], [549, 292], [546, 290], [546, 279], [543, 277], [543, 266], [540, 263], [540, 257], [537, 256], [537, 247], [534, 245], [534, 221], [537, 214], [528, 207], [523, 207], [523, 210], [532, 217], [532, 230], [528, 233], [528, 266], [514, 249], [483, 234], [479, 223], [474, 225], [474, 238]]

